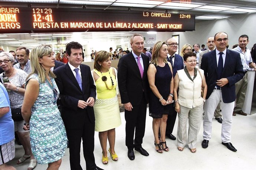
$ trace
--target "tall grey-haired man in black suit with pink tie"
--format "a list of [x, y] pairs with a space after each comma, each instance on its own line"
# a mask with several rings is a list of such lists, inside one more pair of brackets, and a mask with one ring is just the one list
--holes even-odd
[[144, 38], [141, 34], [132, 35], [131, 47], [132, 52], [119, 59], [117, 76], [121, 101], [125, 108], [125, 145], [128, 148], [129, 159], [134, 160], [133, 149], [144, 156], [149, 155], [141, 146], [145, 133], [149, 92], [147, 78], [149, 58], [141, 54], [144, 48]]

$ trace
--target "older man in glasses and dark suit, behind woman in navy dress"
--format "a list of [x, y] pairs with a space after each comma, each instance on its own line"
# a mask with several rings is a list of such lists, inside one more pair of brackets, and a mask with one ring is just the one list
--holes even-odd
[[[175, 54], [175, 52], [177, 52], [178, 44], [174, 38], [167, 39], [165, 43], [168, 45], [167, 61], [169, 61], [173, 67], [173, 78], [174, 78], [177, 71], [184, 68], [183, 58], [180, 55]], [[174, 103], [172, 103], [172, 105], [174, 105]], [[175, 111], [174, 107], [171, 107], [171, 110], [168, 114], [168, 119], [166, 122], [167, 123], [166, 131], [165, 131], [165, 135], [169, 137], [171, 140], [176, 140], [176, 137], [172, 134], [176, 117], [177, 117], [177, 112]]]

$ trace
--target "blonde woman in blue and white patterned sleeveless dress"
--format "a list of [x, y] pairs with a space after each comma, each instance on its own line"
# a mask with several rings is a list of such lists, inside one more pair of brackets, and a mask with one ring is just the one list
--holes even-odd
[[30, 53], [32, 73], [26, 80], [22, 105], [24, 129], [30, 129], [32, 153], [39, 164], [58, 170], [67, 147], [65, 126], [56, 105], [59, 89], [55, 75], [52, 48], [39, 45]]

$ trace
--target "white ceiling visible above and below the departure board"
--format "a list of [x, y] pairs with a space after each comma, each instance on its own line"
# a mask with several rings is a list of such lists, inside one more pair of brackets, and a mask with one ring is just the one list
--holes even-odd
[[[196, 22], [256, 12], [256, 0], [1, 0], [0, 7], [82, 8], [90, 10], [128, 10], [194, 14]], [[62, 44], [82, 37], [88, 41], [109, 41], [130, 32], [26, 33], [0, 34], [0, 45], [33, 48], [39, 44]]]

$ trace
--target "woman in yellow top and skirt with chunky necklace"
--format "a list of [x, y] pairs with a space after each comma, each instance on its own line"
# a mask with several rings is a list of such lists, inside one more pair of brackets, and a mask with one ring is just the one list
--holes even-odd
[[99, 132], [99, 141], [102, 148], [102, 163], [108, 163], [106, 150], [107, 139], [109, 142], [109, 153], [112, 160], [117, 161], [115, 153], [115, 128], [121, 125], [118, 105], [118, 82], [117, 71], [111, 67], [112, 54], [107, 51], [99, 51], [95, 55], [92, 76], [96, 85], [95, 131]]

